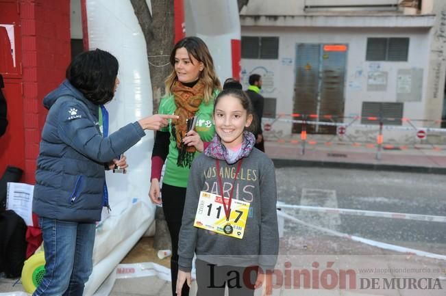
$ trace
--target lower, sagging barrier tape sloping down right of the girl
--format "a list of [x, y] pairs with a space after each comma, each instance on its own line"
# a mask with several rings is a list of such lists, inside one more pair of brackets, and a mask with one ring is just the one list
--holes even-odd
[[306, 223], [302, 220], [299, 220], [291, 215], [288, 215], [286, 213], [283, 213], [282, 211], [277, 211], [277, 215], [280, 217], [284, 217], [285, 219], [289, 219], [291, 221], [294, 221], [298, 224], [302, 224], [305, 226], [308, 226], [310, 228], [314, 228], [317, 230], [320, 230], [322, 232], [327, 232], [329, 234], [334, 235], [335, 237], [343, 237], [345, 239], [350, 239], [351, 241], [358, 241], [359, 243], [364, 243], [366, 245], [371, 245], [373, 247], [380, 247], [381, 249], [385, 249], [385, 250], [391, 250], [391, 251], [395, 251], [395, 252], [400, 252], [400, 253], [405, 253], [405, 254], [412, 254], [412, 255], [417, 255], [417, 256], [423, 256], [423, 257], [427, 257], [427, 258], [434, 258], [434, 259], [440, 259], [440, 260], [446, 260], [446, 256], [445, 255], [441, 255], [441, 254], [434, 254], [434, 253], [430, 253], [430, 252], [425, 252], [425, 251], [421, 251], [421, 250], [415, 250], [415, 249], [411, 249], [409, 247], [401, 247], [399, 245], [392, 245], [390, 243], [382, 243], [380, 241], [373, 241], [372, 239], [364, 239], [363, 237], [356, 237], [355, 235], [349, 235], [349, 234], [345, 234], [342, 232], [338, 232], [336, 230], [331, 230], [328, 228], [323, 228], [321, 226], [316, 226], [313, 224], [309, 224]]

